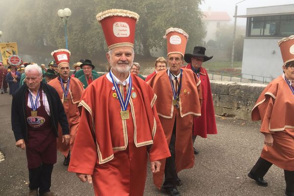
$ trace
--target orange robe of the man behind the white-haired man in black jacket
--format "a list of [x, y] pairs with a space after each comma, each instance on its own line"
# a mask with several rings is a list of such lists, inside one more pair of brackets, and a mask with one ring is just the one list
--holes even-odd
[[[58, 124], [58, 138], [57, 138], [57, 149], [63, 153], [64, 156], [68, 156], [69, 151], [73, 148], [73, 143], [78, 128], [78, 123], [80, 121], [80, 113], [77, 108], [80, 98], [82, 97], [84, 87], [79, 79], [71, 77], [70, 79], [70, 89], [67, 96], [67, 101], [64, 101], [64, 93], [61, 87], [61, 82], [59, 77], [56, 77], [49, 81], [49, 85], [52, 86], [58, 93], [61, 102], [63, 103], [64, 111], [66, 113], [69, 125], [70, 125], [70, 144], [66, 145], [62, 143], [62, 128]], [[65, 86], [66, 89], [66, 86]]]

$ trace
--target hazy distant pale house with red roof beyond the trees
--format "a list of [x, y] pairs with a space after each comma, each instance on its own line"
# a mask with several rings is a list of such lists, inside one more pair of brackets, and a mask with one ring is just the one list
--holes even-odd
[[209, 7], [207, 12], [203, 12], [202, 20], [206, 26], [204, 41], [207, 43], [209, 40], [217, 40], [217, 37], [220, 35], [220, 27], [229, 24], [231, 17], [227, 12], [212, 12], [211, 7]]

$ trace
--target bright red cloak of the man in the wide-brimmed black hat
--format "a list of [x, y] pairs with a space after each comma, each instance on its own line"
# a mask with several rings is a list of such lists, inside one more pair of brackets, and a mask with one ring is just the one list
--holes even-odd
[[[191, 63], [185, 68], [192, 70]], [[194, 118], [193, 135], [207, 138], [207, 134], [217, 134], [218, 131], [209, 77], [203, 67], [200, 67], [199, 79], [201, 80], [202, 90], [201, 116]]]

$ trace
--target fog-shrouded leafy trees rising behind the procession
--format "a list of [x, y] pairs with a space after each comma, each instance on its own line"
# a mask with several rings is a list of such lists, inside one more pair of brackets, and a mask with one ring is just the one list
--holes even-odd
[[9, 0], [0, 2], [2, 42], [17, 42], [19, 52], [49, 56], [65, 48], [64, 26], [59, 9], [70, 8], [68, 45], [73, 58], [105, 56], [107, 49], [96, 15], [107, 9], [127, 9], [140, 15], [136, 25], [135, 52], [150, 56], [149, 49], [165, 49], [169, 27], [189, 34], [187, 51], [202, 44], [202, 0]]

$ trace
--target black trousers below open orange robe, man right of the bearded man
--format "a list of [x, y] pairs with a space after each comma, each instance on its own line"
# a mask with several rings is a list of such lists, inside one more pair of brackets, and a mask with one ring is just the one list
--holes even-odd
[[163, 189], [176, 188], [177, 173], [175, 171], [175, 129], [176, 129], [176, 118], [174, 120], [172, 137], [169, 145], [171, 157], [166, 159], [166, 165], [164, 170], [165, 181], [163, 183]]

